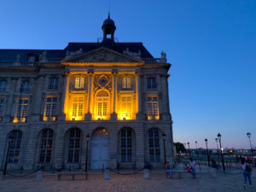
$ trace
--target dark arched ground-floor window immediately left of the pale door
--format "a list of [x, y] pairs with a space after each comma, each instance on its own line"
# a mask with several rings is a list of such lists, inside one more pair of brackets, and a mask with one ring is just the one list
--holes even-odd
[[69, 131], [68, 141], [68, 163], [78, 163], [80, 154], [80, 137], [81, 131], [79, 129], [71, 129]]

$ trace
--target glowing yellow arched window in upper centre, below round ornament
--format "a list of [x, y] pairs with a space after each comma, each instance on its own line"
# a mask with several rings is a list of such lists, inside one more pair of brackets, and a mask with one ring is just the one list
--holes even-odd
[[101, 90], [96, 95], [96, 117], [97, 118], [106, 118], [108, 116], [108, 102], [109, 96], [108, 92]]

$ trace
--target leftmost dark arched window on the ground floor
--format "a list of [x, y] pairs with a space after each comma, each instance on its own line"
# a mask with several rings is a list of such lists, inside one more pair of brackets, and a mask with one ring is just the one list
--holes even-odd
[[20, 143], [21, 143], [22, 132], [12, 131], [9, 135], [9, 163], [18, 163], [20, 156]]

